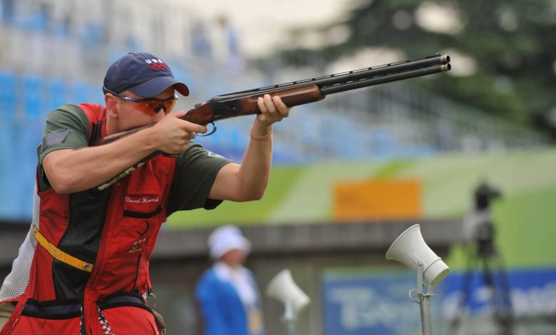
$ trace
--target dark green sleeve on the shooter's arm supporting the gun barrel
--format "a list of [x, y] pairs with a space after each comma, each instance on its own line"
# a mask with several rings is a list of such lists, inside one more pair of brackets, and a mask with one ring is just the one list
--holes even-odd
[[196, 208], [212, 210], [220, 205], [222, 200], [208, 199], [208, 195], [218, 171], [230, 162], [198, 143], [190, 145], [177, 158], [166, 214]]

